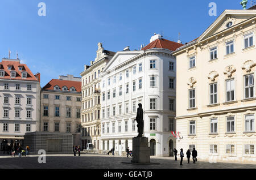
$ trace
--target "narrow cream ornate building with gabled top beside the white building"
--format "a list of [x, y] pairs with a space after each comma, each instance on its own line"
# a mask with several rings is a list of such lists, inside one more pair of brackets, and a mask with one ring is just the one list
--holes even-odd
[[100, 112], [101, 112], [101, 88], [100, 74], [106, 63], [115, 54], [102, 47], [102, 43], [98, 43], [97, 57], [90, 62], [90, 66], [85, 65], [84, 71], [81, 72], [82, 77], [82, 148], [86, 149], [86, 144], [93, 144], [94, 149], [100, 149]]

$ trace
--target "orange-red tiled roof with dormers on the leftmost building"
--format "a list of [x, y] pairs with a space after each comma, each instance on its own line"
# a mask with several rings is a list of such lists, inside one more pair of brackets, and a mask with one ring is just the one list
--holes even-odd
[[[11, 70], [8, 69], [8, 66], [12, 66]], [[23, 68], [20, 71], [19, 67], [22, 66]], [[0, 62], [0, 70], [5, 71], [5, 76], [0, 77], [0, 79], [39, 81], [30, 71], [30, 68], [28, 68], [26, 64], [20, 64], [20, 61], [18, 59], [2, 59], [2, 62]], [[16, 72], [15, 78], [11, 78], [11, 71]], [[27, 78], [22, 78], [22, 72], [27, 72]]]

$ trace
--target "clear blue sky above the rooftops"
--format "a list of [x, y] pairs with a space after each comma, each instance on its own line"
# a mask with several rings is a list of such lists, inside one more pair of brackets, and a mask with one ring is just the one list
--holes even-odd
[[[46, 16], [38, 3], [46, 3]], [[80, 76], [96, 57], [97, 43], [119, 51], [148, 44], [155, 33], [183, 43], [193, 40], [225, 9], [242, 9], [240, 0], [1, 0], [0, 58], [16, 58], [41, 73], [41, 86], [59, 75]]]

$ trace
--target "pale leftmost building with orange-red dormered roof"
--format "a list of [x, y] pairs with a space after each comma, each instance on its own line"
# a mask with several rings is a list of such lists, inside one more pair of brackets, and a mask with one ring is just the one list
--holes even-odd
[[32, 74], [20, 59], [3, 58], [0, 62], [0, 143], [23, 145], [26, 132], [38, 131], [40, 74]]

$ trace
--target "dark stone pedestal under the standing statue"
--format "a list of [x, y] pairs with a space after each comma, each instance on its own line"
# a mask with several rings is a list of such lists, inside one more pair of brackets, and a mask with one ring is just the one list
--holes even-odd
[[133, 138], [133, 160], [132, 163], [150, 163], [150, 147], [148, 147], [148, 138]]

